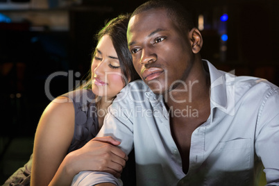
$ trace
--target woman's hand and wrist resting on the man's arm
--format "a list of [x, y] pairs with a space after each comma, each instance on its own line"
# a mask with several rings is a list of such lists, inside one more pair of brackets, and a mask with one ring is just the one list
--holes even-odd
[[119, 178], [128, 160], [128, 156], [117, 147], [119, 144], [110, 136], [95, 137], [66, 156], [66, 167], [71, 174], [85, 170], [105, 171]]

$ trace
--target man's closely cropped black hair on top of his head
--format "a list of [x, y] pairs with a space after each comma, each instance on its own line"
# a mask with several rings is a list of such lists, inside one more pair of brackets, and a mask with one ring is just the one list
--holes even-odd
[[143, 3], [141, 6], [137, 7], [131, 17], [139, 14], [140, 12], [155, 8], [166, 9], [169, 18], [173, 19], [183, 32], [190, 31], [192, 28], [194, 28], [194, 22], [192, 20], [191, 14], [180, 3], [172, 0], [147, 1], [146, 3]]

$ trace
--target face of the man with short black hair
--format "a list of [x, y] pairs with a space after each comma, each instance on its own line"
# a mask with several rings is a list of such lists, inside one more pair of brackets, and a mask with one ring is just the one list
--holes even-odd
[[155, 94], [167, 93], [186, 81], [194, 61], [187, 33], [162, 8], [130, 19], [127, 40], [133, 65]]

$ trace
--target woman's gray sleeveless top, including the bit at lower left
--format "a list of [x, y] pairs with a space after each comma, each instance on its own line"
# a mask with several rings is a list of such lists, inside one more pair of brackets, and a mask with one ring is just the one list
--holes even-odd
[[[74, 136], [67, 151], [67, 153], [70, 153], [80, 149], [97, 135], [99, 132], [99, 122], [94, 102], [95, 95], [92, 90], [74, 90], [62, 96], [66, 96], [73, 101], [75, 110]], [[24, 167], [17, 169], [2, 186], [30, 185], [32, 159], [33, 154], [30, 160], [24, 164]]]

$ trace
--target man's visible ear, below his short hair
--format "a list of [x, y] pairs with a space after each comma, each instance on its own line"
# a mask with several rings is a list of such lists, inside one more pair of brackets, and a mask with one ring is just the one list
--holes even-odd
[[203, 47], [203, 37], [201, 37], [201, 33], [198, 31], [198, 28], [192, 28], [192, 30], [189, 31], [189, 38], [193, 53], [201, 51], [201, 47]]

